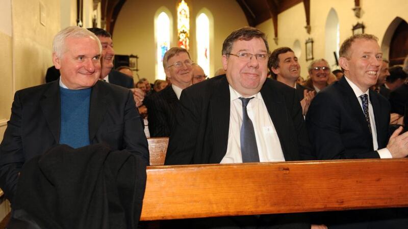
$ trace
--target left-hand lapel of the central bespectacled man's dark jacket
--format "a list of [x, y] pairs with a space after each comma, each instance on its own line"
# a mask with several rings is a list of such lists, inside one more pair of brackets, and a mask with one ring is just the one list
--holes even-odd
[[228, 145], [228, 132], [230, 130], [230, 88], [226, 76], [214, 83], [213, 96], [210, 100], [211, 121], [214, 133], [214, 151], [216, 161], [219, 163], [225, 156]]

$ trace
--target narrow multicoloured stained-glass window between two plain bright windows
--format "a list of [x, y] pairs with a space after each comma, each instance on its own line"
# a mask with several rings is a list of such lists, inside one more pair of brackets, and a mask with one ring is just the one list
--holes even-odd
[[182, 0], [177, 7], [177, 35], [179, 47], [190, 49], [190, 10], [186, 2]]

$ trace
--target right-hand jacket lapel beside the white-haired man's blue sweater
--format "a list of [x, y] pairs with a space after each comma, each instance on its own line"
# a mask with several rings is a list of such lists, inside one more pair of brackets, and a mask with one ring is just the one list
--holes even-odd
[[104, 91], [105, 82], [97, 81], [92, 88], [91, 101], [89, 107], [89, 140], [95, 137], [100, 123], [103, 121], [105, 112], [109, 105], [109, 93]]

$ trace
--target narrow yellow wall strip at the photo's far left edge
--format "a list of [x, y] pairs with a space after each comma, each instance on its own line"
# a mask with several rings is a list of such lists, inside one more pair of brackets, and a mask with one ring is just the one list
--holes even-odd
[[0, 0], [0, 140], [3, 139], [2, 122], [10, 118], [13, 100], [12, 23], [11, 0]]

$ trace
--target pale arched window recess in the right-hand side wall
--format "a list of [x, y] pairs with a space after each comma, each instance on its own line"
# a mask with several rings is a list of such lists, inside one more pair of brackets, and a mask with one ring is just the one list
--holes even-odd
[[330, 9], [330, 12], [327, 15], [325, 38], [325, 59], [328, 61], [330, 67], [333, 68], [333, 66], [336, 66], [334, 52], [336, 52], [336, 56], [338, 58], [340, 47], [339, 17], [337, 16], [336, 10], [333, 8]]

